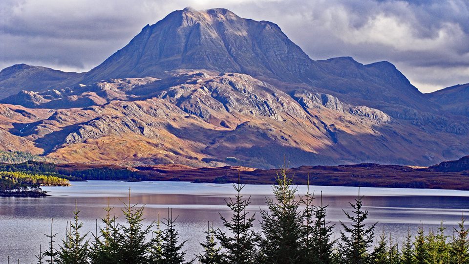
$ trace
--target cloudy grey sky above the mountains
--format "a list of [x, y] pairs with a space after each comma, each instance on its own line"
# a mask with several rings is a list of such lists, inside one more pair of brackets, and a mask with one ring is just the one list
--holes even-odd
[[469, 0], [1, 0], [0, 68], [88, 71], [187, 6], [277, 23], [314, 60], [389, 61], [422, 92], [469, 83]]

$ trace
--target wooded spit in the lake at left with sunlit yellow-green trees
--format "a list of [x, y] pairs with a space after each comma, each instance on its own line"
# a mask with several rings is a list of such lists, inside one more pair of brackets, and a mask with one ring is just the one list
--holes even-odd
[[0, 171], [0, 197], [48, 196], [41, 186], [68, 186], [70, 182], [53, 174]]

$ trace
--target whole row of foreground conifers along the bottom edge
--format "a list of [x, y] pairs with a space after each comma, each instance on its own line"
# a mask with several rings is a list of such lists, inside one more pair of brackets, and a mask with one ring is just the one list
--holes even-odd
[[[466, 264], [469, 263], [469, 238], [465, 219], [452, 235], [443, 224], [417, 235], [408, 230], [403, 242], [391, 234], [376, 234], [376, 223], [368, 223], [363, 197], [343, 210], [345, 221], [337, 227], [327, 220], [327, 205], [308, 187], [298, 194], [293, 177], [286, 168], [279, 170], [273, 198], [260, 215], [250, 213], [250, 197], [242, 194], [244, 185], [233, 184], [235, 197], [226, 199], [230, 218], [220, 215], [222, 225], [209, 222], [200, 253], [189, 256], [184, 250], [187, 238], [180, 238], [177, 216], [167, 215], [144, 225], [145, 206], [123, 202], [124, 221], [117, 221], [114, 208], [104, 208], [96, 232], [83, 233], [80, 210], [66, 229], [65, 239], [55, 241], [54, 230], [46, 235], [48, 244], [38, 245], [38, 264]], [[309, 186], [309, 185], [308, 185]], [[255, 221], [261, 229], [254, 229]], [[52, 223], [51, 223], [52, 226]], [[340, 234], [332, 239], [333, 232]]]

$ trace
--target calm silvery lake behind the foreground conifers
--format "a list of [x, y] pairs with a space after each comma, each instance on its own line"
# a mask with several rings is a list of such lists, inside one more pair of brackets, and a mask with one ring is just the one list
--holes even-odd
[[[39, 245], [47, 245], [51, 219], [54, 233], [60, 241], [65, 233], [67, 221], [72, 219], [75, 202], [81, 210], [80, 217], [84, 230], [94, 232], [96, 220], [104, 217], [102, 208], [115, 207], [119, 214], [123, 207], [121, 200], [128, 200], [128, 188], [131, 188], [131, 202], [145, 204], [146, 223], [164, 218], [168, 208], [173, 208], [173, 215], [179, 216], [177, 227], [181, 241], [186, 243], [187, 256], [199, 252], [202, 233], [208, 221], [213, 227], [221, 227], [219, 213], [229, 216], [224, 199], [235, 195], [231, 184], [197, 184], [190, 182], [122, 182], [88, 181], [72, 182], [69, 187], [44, 187], [50, 197], [43, 198], [0, 198], [0, 263], [36, 263], [34, 254], [39, 252]], [[358, 195], [357, 187], [310, 186], [315, 191], [316, 202], [322, 191], [323, 203], [329, 204], [327, 219], [336, 223], [334, 230], [338, 237], [339, 220], [345, 220], [342, 209], [350, 210], [348, 202]], [[298, 187], [298, 194], [304, 194], [306, 186]], [[243, 194], [251, 196], [251, 211], [265, 209], [265, 197], [272, 195], [270, 185], [246, 185]], [[370, 223], [379, 221], [377, 235], [385, 230], [395, 238], [405, 237], [407, 229], [415, 232], [421, 223], [428, 228], [436, 228], [444, 221], [451, 234], [452, 227], [468, 215], [469, 191], [396, 189], [396, 188], [360, 188], [365, 196], [364, 205], [369, 210]], [[122, 217], [120, 218], [122, 220]], [[256, 228], [259, 224], [256, 221]], [[58, 244], [58, 243], [57, 243]]]

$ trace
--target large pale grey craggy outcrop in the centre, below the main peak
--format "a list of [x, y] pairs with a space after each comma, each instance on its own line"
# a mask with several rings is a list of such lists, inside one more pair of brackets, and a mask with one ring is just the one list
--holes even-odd
[[306, 119], [301, 108], [285, 93], [251, 76], [229, 73], [169, 88], [158, 97], [170, 100], [187, 113], [209, 119], [220, 111], [266, 116], [283, 121], [289, 114]]

